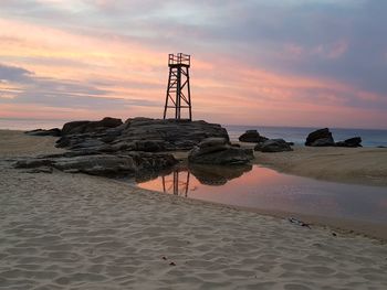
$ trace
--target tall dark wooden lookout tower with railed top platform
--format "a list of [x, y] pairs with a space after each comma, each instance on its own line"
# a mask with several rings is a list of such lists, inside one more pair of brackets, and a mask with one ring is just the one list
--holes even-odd
[[[168, 109], [175, 109], [175, 119], [192, 120], [191, 92], [189, 87], [189, 66], [191, 56], [184, 53], [169, 54], [169, 78], [164, 107], [164, 119]], [[181, 109], [188, 109], [188, 116], [181, 116]]]

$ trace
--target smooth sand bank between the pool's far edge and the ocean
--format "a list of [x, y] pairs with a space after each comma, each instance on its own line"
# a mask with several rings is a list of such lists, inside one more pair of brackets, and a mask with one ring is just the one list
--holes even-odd
[[318, 180], [387, 186], [387, 148], [294, 147], [292, 152], [254, 152], [254, 163]]

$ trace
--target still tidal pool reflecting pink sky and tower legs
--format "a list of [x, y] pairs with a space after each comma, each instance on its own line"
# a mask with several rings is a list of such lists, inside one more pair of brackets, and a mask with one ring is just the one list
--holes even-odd
[[317, 181], [259, 165], [179, 167], [143, 189], [263, 211], [387, 225], [387, 189]]

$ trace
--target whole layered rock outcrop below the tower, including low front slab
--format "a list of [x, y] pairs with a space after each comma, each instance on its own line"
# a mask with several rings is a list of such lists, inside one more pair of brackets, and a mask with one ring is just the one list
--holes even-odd
[[[20, 160], [15, 168], [34, 172], [55, 169], [93, 175], [138, 176], [154, 174], [178, 162], [171, 154], [161, 151], [189, 150], [208, 137], [229, 142], [227, 130], [220, 125], [148, 118], [128, 119], [125, 123], [108, 117], [100, 121], [67, 122], [61, 136], [56, 146], [70, 151]], [[231, 159], [230, 150], [224, 158], [229, 158], [229, 163], [241, 160]]]

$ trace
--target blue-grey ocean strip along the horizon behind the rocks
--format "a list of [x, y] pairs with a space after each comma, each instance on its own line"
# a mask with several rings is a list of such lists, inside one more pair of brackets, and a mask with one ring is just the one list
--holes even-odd
[[[33, 130], [62, 128], [63, 123], [70, 120], [48, 120], [48, 119], [7, 119], [0, 118], [0, 129], [11, 130]], [[301, 127], [269, 127], [269, 126], [237, 126], [223, 125], [229, 132], [231, 140], [238, 140], [245, 130], [257, 129], [260, 135], [268, 138], [283, 138], [287, 142], [303, 144], [307, 135], [320, 128], [301, 128]], [[364, 147], [387, 147], [387, 130], [376, 129], [343, 129], [330, 128], [335, 141], [342, 141], [352, 137], [362, 137]]]

